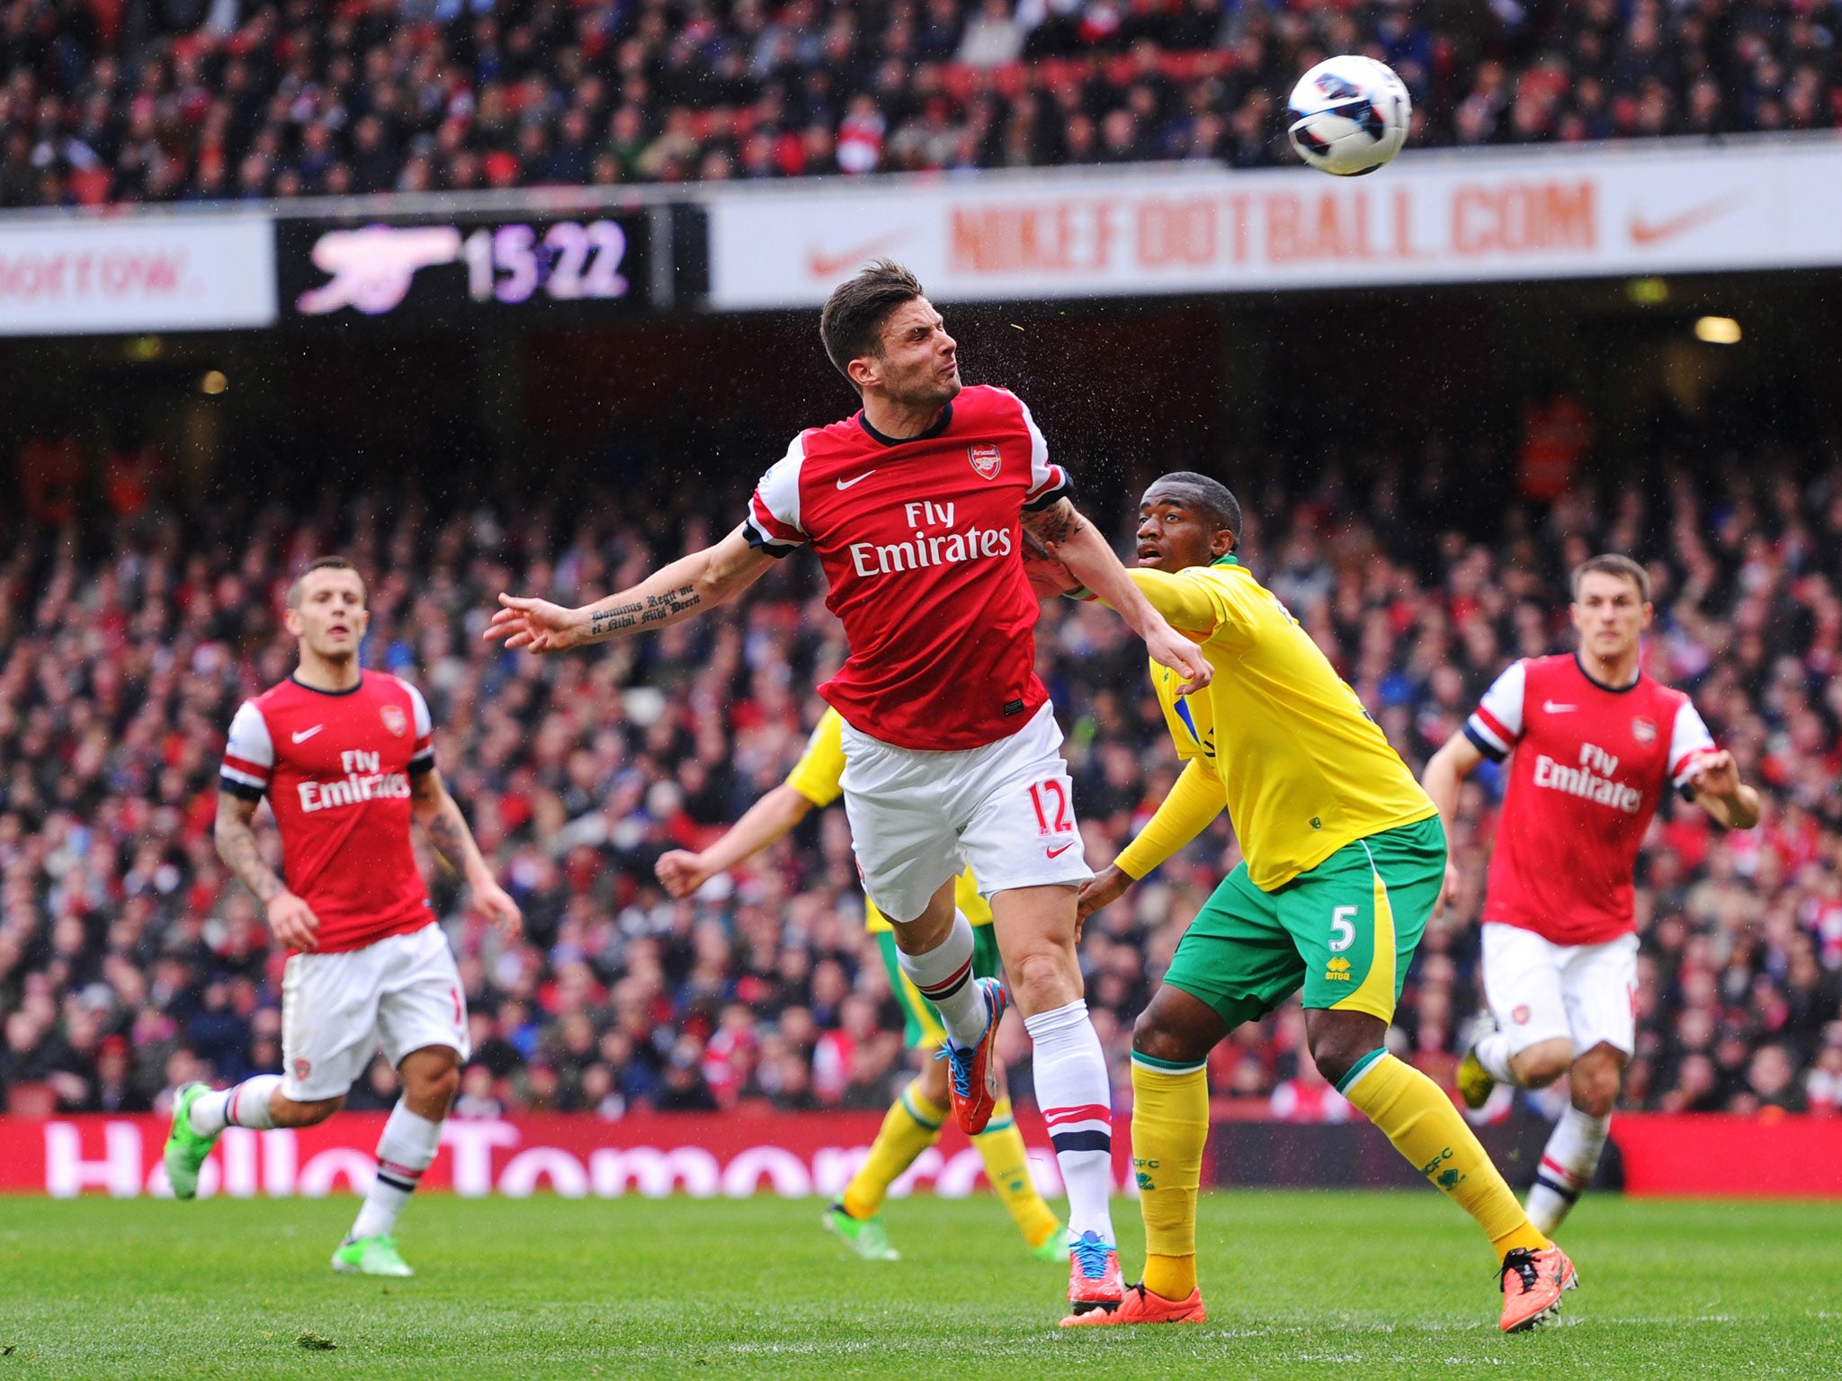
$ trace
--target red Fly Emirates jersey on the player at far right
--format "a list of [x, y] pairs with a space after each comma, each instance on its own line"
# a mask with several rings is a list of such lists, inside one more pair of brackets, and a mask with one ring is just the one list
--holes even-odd
[[1614, 689], [1573, 656], [1533, 657], [1496, 679], [1464, 735], [1492, 760], [1514, 751], [1485, 921], [1555, 945], [1634, 930], [1643, 834], [1663, 792], [1715, 748], [1689, 698], [1645, 674]]

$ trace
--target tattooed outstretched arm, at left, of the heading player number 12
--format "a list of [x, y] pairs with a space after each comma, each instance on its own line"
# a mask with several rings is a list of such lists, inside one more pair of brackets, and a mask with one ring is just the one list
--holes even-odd
[[610, 637], [669, 628], [733, 600], [770, 565], [774, 556], [750, 547], [742, 528], [737, 527], [717, 545], [682, 556], [632, 589], [577, 609], [549, 600], [499, 595], [503, 608], [492, 615], [483, 637], [503, 641], [508, 648], [567, 652]]

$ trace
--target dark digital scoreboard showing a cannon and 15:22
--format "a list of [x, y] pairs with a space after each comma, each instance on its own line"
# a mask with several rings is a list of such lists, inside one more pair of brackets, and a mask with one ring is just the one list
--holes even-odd
[[[663, 243], [654, 236], [659, 226], [670, 228]], [[698, 271], [704, 258], [704, 221], [687, 206], [451, 221], [284, 221], [276, 234], [280, 298], [295, 319], [466, 322], [558, 309], [658, 311], [689, 306], [676, 300], [678, 241]], [[702, 282], [691, 284], [687, 298], [700, 295]]]

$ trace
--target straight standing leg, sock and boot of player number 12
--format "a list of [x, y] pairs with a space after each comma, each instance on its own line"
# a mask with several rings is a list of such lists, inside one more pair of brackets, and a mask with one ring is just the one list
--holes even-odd
[[1004, 972], [1035, 1044], [1035, 1090], [1068, 1190], [1068, 1302], [1116, 1309], [1125, 1293], [1113, 1236], [1113, 1086], [1087, 1015], [1074, 952], [1076, 888], [1009, 888], [991, 897]]

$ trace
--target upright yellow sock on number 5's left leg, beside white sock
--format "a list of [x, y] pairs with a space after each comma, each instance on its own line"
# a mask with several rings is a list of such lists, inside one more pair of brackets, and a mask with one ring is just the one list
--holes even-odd
[[1195, 1191], [1208, 1142], [1208, 1075], [1133, 1055], [1133, 1171], [1146, 1221], [1146, 1289], [1186, 1300], [1195, 1289]]

